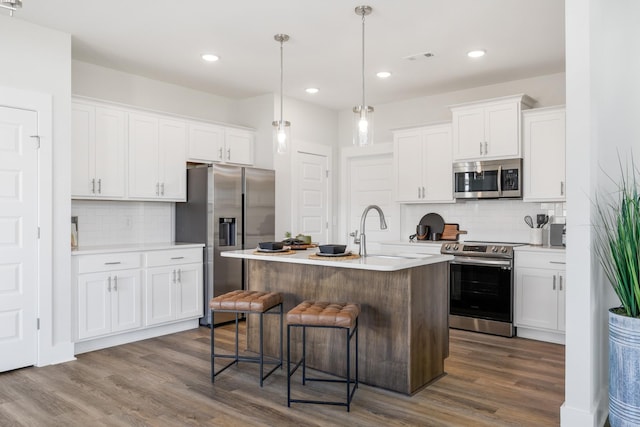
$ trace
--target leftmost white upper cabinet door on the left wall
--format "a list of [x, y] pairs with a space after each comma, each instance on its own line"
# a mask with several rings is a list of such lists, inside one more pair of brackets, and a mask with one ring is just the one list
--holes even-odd
[[95, 108], [71, 107], [71, 196], [95, 195]]

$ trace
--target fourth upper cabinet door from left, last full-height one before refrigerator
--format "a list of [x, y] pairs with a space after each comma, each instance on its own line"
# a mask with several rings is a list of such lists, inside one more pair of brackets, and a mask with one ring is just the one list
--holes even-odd
[[185, 201], [187, 197], [186, 124], [176, 120], [161, 119], [159, 125], [160, 197]]

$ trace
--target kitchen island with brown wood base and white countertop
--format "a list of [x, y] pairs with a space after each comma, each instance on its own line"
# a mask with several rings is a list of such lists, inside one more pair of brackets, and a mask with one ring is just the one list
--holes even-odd
[[[451, 256], [385, 254], [340, 259], [318, 258], [316, 251], [285, 255], [244, 250], [222, 256], [247, 259], [248, 289], [281, 292], [285, 313], [304, 300], [360, 304], [361, 382], [410, 395], [444, 374], [444, 359], [449, 355]], [[247, 346], [256, 351], [258, 325], [251, 317]], [[272, 355], [278, 346], [275, 318], [265, 318], [265, 352]], [[331, 332], [308, 331], [307, 363], [344, 375], [344, 338]], [[299, 356], [299, 348], [299, 337], [292, 337], [293, 358]]]

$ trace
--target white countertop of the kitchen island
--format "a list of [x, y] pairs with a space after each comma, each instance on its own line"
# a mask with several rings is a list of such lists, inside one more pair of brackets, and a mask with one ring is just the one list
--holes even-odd
[[221, 255], [230, 258], [244, 258], [258, 261], [286, 262], [295, 264], [318, 265], [325, 267], [349, 268], [373, 271], [398, 271], [406, 268], [447, 262], [453, 259], [451, 255], [431, 255], [419, 253], [393, 252], [370, 254], [366, 257], [344, 259], [340, 257], [313, 257], [317, 249], [293, 251], [291, 254], [259, 253], [255, 249], [226, 251]]

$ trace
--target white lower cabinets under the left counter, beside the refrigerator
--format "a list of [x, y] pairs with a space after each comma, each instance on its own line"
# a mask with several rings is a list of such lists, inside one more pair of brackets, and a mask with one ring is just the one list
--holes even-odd
[[76, 341], [108, 338], [103, 348], [119, 334], [202, 317], [202, 258], [201, 247], [75, 255]]

